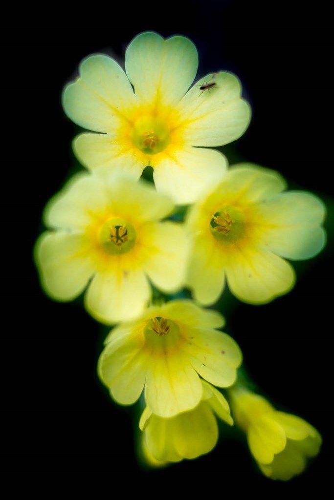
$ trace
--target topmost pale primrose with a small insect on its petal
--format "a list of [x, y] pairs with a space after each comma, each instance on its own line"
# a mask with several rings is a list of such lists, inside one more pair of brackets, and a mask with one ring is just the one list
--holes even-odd
[[89, 169], [126, 171], [135, 179], [150, 165], [158, 191], [177, 203], [197, 199], [226, 167], [225, 157], [206, 147], [237, 139], [250, 119], [231, 73], [207, 75], [187, 91], [197, 66], [188, 38], [164, 40], [154, 32], [132, 40], [126, 73], [107, 55], [84, 59], [80, 77], [65, 88], [64, 109], [78, 125], [102, 133], [75, 139], [79, 160]]

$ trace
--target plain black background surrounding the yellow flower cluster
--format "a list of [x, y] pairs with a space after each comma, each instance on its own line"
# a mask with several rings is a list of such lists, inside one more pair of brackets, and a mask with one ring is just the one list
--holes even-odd
[[[165, 491], [176, 478], [181, 481], [176, 493], [202, 485], [207, 493], [218, 488], [221, 494], [226, 488], [234, 493], [315, 491], [328, 479], [334, 227], [326, 8], [321, 1], [307, 6], [211, 0], [35, 10], [30, 5], [9, 13], [2, 61], [3, 249], [8, 250], [3, 259], [2, 401], [3, 471], [10, 477], [99, 473], [112, 488], [131, 491], [141, 484], [144, 493], [155, 484]], [[328, 207], [328, 244], [319, 256], [294, 265], [298, 280], [289, 294], [250, 306], [226, 293], [218, 305], [227, 317], [225, 331], [239, 342], [255, 383], [323, 435], [319, 457], [286, 484], [261, 476], [245, 443], [234, 437], [197, 460], [144, 470], [135, 455], [137, 423], [131, 408], [112, 403], [97, 380], [96, 361], [107, 330], [88, 316], [80, 300], [53, 302], [39, 286], [32, 248], [43, 229], [42, 210], [75, 167], [71, 140], [78, 128], [63, 113], [62, 88], [92, 52], [107, 52], [123, 64], [127, 44], [144, 30], [190, 37], [199, 51], [198, 77], [225, 69], [241, 79], [253, 114], [247, 132], [221, 148], [230, 163], [248, 160], [277, 169], [290, 187], [318, 194]]]

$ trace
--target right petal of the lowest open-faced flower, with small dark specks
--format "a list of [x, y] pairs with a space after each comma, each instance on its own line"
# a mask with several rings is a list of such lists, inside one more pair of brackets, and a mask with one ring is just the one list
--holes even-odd
[[192, 327], [184, 329], [182, 336], [182, 351], [205, 380], [219, 387], [232, 385], [242, 354], [229, 335], [209, 328]]

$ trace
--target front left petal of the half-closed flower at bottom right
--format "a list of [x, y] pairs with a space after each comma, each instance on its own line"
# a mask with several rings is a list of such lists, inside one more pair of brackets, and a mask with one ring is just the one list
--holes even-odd
[[284, 429], [270, 414], [263, 415], [250, 425], [247, 438], [255, 460], [262, 464], [271, 463], [274, 455], [286, 445]]

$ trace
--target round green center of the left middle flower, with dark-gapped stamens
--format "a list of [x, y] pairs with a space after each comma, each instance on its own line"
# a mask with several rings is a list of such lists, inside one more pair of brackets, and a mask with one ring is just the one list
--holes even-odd
[[134, 247], [136, 231], [129, 222], [120, 218], [112, 218], [101, 227], [99, 238], [106, 253], [119, 255], [127, 253]]

